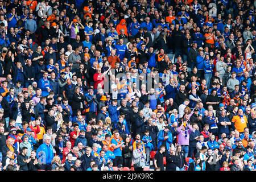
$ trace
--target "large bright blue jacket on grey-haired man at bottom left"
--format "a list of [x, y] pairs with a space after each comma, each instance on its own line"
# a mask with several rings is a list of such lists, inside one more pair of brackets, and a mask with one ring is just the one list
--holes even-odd
[[38, 158], [38, 162], [40, 161], [42, 164], [51, 164], [53, 157], [52, 144], [47, 146], [46, 143], [43, 143], [39, 146], [38, 150], [36, 150], [36, 158]]

